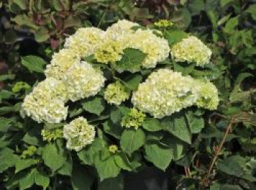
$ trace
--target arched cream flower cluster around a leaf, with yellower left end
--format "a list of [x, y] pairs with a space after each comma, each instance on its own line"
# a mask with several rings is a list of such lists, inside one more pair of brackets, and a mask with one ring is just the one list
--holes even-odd
[[170, 52], [168, 41], [156, 36], [150, 29], [132, 31], [130, 28], [136, 25], [121, 20], [110, 26], [106, 31], [107, 40], [95, 52], [97, 61], [113, 63], [121, 60], [126, 48], [138, 49], [146, 54], [142, 63], [144, 68], [154, 68], [157, 63], [165, 60]]

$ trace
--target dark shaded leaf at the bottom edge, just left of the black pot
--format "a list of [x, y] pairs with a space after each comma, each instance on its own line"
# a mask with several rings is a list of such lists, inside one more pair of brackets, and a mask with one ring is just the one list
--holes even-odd
[[124, 180], [121, 175], [105, 179], [99, 182], [98, 190], [124, 190]]

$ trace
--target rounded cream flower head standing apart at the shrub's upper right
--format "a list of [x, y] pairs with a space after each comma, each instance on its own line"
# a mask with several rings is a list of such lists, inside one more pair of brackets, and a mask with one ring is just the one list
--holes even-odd
[[171, 55], [177, 62], [195, 63], [196, 66], [205, 66], [210, 62], [211, 50], [195, 36], [182, 39], [171, 48]]

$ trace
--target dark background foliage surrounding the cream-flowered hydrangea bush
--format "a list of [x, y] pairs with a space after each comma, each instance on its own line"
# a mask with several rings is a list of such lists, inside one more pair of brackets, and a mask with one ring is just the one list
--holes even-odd
[[[4, 0], [0, 15], [0, 149], [10, 147], [10, 152], [0, 154], [1, 162], [12, 151], [19, 153], [18, 146], [34, 146], [29, 124], [20, 120], [19, 103], [29, 85], [42, 79], [40, 68], [67, 36], [80, 27], [107, 28], [124, 18], [142, 25], [167, 19], [211, 47], [212, 62], [218, 68], [213, 77], [222, 101], [217, 112], [204, 115], [206, 126], [163, 178], [171, 189], [256, 189], [254, 0]], [[28, 70], [33, 64], [39, 68]], [[26, 82], [23, 86], [28, 88], [17, 90], [17, 82]], [[38, 159], [37, 154], [33, 157]], [[12, 170], [3, 171], [0, 189], [4, 184], [12, 189], [15, 180], [6, 183]], [[67, 176], [59, 175], [50, 176], [51, 183], [57, 181], [55, 188], [69, 187]], [[99, 189], [120, 183], [120, 178], [103, 181]]]

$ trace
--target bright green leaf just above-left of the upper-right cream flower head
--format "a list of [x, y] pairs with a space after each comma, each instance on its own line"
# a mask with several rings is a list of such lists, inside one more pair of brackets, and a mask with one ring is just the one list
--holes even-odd
[[182, 39], [187, 38], [187, 33], [181, 30], [165, 31], [164, 37], [167, 39], [170, 45], [174, 45], [180, 42]]

